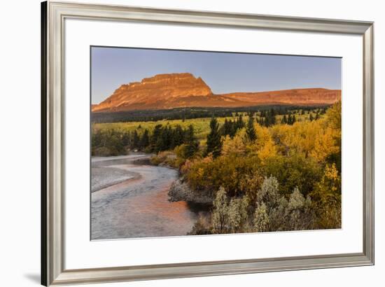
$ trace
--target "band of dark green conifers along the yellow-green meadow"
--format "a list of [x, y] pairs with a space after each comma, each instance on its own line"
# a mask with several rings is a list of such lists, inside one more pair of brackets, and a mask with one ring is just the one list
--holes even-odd
[[[307, 112], [309, 113], [309, 120], [312, 121], [318, 120], [320, 115], [325, 113], [325, 109], [317, 109], [316, 116], [313, 116], [310, 111]], [[305, 113], [305, 110], [302, 109], [301, 113]], [[217, 158], [222, 151], [222, 137], [229, 136], [232, 139], [239, 130], [244, 128], [246, 128], [248, 139], [255, 141], [254, 121], [262, 127], [271, 127], [276, 125], [276, 116], [282, 114], [282, 124], [293, 125], [297, 121], [295, 114], [288, 109], [247, 111], [247, 122], [244, 120], [244, 113], [236, 112], [235, 115], [232, 113], [230, 120], [225, 118], [225, 122], [221, 126], [216, 117], [212, 115], [204, 155], [212, 154], [214, 158]], [[139, 127], [141, 126], [139, 125]], [[141, 130], [141, 128], [132, 132], [113, 129], [92, 132], [92, 155], [122, 155], [127, 153], [127, 149], [146, 153], [159, 153], [160, 151], [174, 150], [174, 148], [182, 144], [188, 147], [189, 151], [186, 153], [188, 157], [192, 157], [199, 150], [199, 142], [195, 136], [193, 125], [189, 125], [188, 128], [184, 129], [181, 125], [175, 127], [156, 125], [153, 132], [148, 129], [143, 132], [138, 132], [138, 130]]]

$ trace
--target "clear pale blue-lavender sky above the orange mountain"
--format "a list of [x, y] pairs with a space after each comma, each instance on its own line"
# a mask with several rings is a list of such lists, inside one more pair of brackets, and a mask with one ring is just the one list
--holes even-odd
[[158, 73], [193, 73], [214, 94], [306, 87], [339, 90], [341, 65], [339, 57], [92, 47], [92, 104], [111, 96], [120, 85]]

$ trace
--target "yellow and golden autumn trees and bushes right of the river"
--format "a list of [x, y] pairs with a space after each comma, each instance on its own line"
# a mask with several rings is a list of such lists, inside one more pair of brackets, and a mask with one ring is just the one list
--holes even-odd
[[221, 155], [181, 167], [192, 190], [215, 198], [205, 232], [341, 228], [341, 102], [316, 120], [250, 123], [222, 137]]

